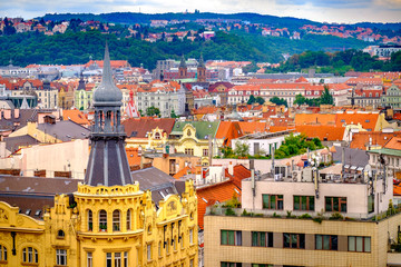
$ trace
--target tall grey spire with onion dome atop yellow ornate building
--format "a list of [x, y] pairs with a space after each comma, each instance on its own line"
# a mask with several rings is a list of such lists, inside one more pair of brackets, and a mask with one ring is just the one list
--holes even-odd
[[120, 126], [123, 93], [111, 77], [106, 43], [101, 83], [94, 92], [95, 125], [85, 184], [89, 186], [125, 186], [134, 184], [125, 151], [125, 132]]

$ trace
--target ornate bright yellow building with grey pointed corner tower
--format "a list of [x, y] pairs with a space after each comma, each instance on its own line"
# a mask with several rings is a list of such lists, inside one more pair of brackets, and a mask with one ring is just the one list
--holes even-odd
[[197, 266], [193, 181], [180, 197], [160, 194], [158, 204], [139, 189], [124, 149], [120, 106], [106, 47], [85, 181], [72, 195], [56, 196], [42, 220], [0, 201], [0, 267]]

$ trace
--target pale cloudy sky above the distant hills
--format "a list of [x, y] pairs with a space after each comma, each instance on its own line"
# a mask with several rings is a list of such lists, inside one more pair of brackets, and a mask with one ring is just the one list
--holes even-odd
[[0, 17], [46, 13], [256, 12], [319, 22], [401, 22], [401, 0], [0, 0]]

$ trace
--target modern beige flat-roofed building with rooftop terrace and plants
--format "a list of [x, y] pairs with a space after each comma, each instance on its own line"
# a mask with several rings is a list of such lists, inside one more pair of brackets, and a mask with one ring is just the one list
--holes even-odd
[[206, 211], [205, 266], [398, 266], [389, 248], [401, 214], [387, 216], [392, 176], [354, 171], [244, 179], [242, 208]]

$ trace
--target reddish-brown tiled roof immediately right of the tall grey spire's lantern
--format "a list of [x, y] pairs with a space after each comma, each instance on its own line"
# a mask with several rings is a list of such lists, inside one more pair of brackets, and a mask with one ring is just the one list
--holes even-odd
[[129, 118], [121, 122], [127, 137], [133, 138], [147, 138], [146, 135], [153, 129], [156, 129], [156, 127], [163, 129], [164, 132], [169, 135], [173, 130], [174, 123], [175, 119], [153, 117]]

